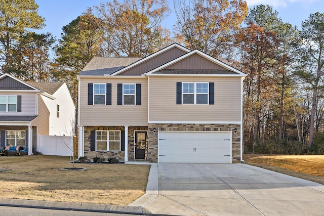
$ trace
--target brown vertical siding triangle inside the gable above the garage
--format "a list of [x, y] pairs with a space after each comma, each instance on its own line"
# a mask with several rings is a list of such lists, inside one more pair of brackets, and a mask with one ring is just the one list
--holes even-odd
[[225, 68], [215, 64], [214, 62], [206, 59], [203, 56], [198, 54], [193, 54], [175, 64], [170, 65], [165, 69], [187, 69], [187, 70], [196, 70], [196, 69], [216, 69], [224, 70]]

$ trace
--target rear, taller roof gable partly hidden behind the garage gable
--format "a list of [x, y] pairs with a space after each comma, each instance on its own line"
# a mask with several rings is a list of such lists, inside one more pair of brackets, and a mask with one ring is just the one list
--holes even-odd
[[120, 69], [112, 73], [111, 75], [142, 75], [188, 52], [190, 52], [190, 50], [175, 43], [123, 69]]

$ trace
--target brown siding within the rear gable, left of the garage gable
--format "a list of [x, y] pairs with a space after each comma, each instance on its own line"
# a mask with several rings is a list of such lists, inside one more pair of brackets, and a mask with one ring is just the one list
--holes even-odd
[[129, 70], [126, 70], [123, 73], [120, 73], [119, 75], [140, 75], [145, 72], [148, 72], [160, 65], [163, 65], [167, 62], [170, 62], [182, 55], [186, 54], [185, 51], [180, 50], [179, 48], [172, 48], [171, 50], [168, 50], [164, 53], [161, 53], [154, 58], [151, 58], [139, 65], [136, 65], [135, 67], [130, 68]]

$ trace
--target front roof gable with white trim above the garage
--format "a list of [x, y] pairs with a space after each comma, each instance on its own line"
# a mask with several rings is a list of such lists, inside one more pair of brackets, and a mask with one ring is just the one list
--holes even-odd
[[[184, 72], [188, 70], [190, 72]], [[214, 70], [212, 72], [211, 70]], [[229, 66], [228, 64], [213, 58], [201, 51], [194, 50], [179, 58], [161, 65], [149, 72], [146, 75], [157, 74], [217, 74], [217, 75], [234, 75], [246, 76], [245, 73]], [[182, 72], [181, 72], [182, 71]]]

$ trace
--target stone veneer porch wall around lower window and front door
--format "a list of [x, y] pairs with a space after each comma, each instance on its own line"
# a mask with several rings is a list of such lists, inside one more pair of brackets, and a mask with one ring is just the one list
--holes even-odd
[[[90, 132], [91, 131], [125, 131], [124, 126], [85, 126], [84, 128], [84, 155], [88, 158], [94, 157], [116, 157], [118, 160], [125, 160], [124, 151], [90, 151]], [[134, 160], [134, 132], [147, 131], [147, 126], [129, 126], [128, 127], [128, 160]]]

